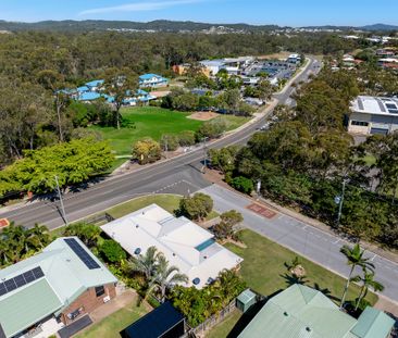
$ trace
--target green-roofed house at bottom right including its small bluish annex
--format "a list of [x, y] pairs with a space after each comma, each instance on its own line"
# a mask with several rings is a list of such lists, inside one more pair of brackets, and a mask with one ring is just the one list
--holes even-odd
[[321, 291], [296, 284], [268, 300], [238, 337], [388, 338], [394, 323], [373, 308], [356, 320]]

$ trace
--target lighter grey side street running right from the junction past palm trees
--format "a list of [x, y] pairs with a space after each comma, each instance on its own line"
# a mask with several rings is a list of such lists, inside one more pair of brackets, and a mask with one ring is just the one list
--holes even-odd
[[[217, 185], [209, 186], [201, 191], [212, 197], [217, 212], [237, 210], [242, 214], [246, 227], [309, 258], [327, 270], [348, 277], [349, 266], [339, 252], [341, 246], [348, 242], [341, 238], [284, 214], [277, 214], [271, 220], [265, 218], [246, 208], [252, 203], [252, 200]], [[398, 264], [371, 252], [365, 253], [365, 256], [369, 256], [376, 267], [376, 280], [385, 286], [382, 293], [398, 301]], [[360, 273], [361, 271], [358, 270], [357, 274]]]

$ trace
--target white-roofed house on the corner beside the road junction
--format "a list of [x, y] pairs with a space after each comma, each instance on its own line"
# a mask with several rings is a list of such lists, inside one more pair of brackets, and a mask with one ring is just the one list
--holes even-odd
[[202, 288], [224, 268], [232, 270], [242, 259], [220, 246], [214, 236], [186, 217], [175, 217], [157, 204], [112, 221], [102, 230], [130, 255], [156, 247], [171, 265], [189, 278], [188, 286]]

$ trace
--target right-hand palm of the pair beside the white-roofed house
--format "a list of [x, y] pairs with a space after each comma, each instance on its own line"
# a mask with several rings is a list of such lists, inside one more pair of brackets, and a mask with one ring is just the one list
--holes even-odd
[[188, 283], [188, 276], [179, 273], [177, 266], [169, 266], [169, 261], [163, 253], [158, 254], [158, 265], [154, 272], [154, 285], [161, 293], [161, 301], [164, 302], [167, 289], [179, 283]]

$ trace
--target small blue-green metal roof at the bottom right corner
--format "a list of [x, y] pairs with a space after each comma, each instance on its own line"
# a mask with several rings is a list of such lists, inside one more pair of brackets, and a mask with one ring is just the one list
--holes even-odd
[[368, 306], [358, 318], [352, 333], [360, 338], [388, 337], [395, 321], [384, 312]]

